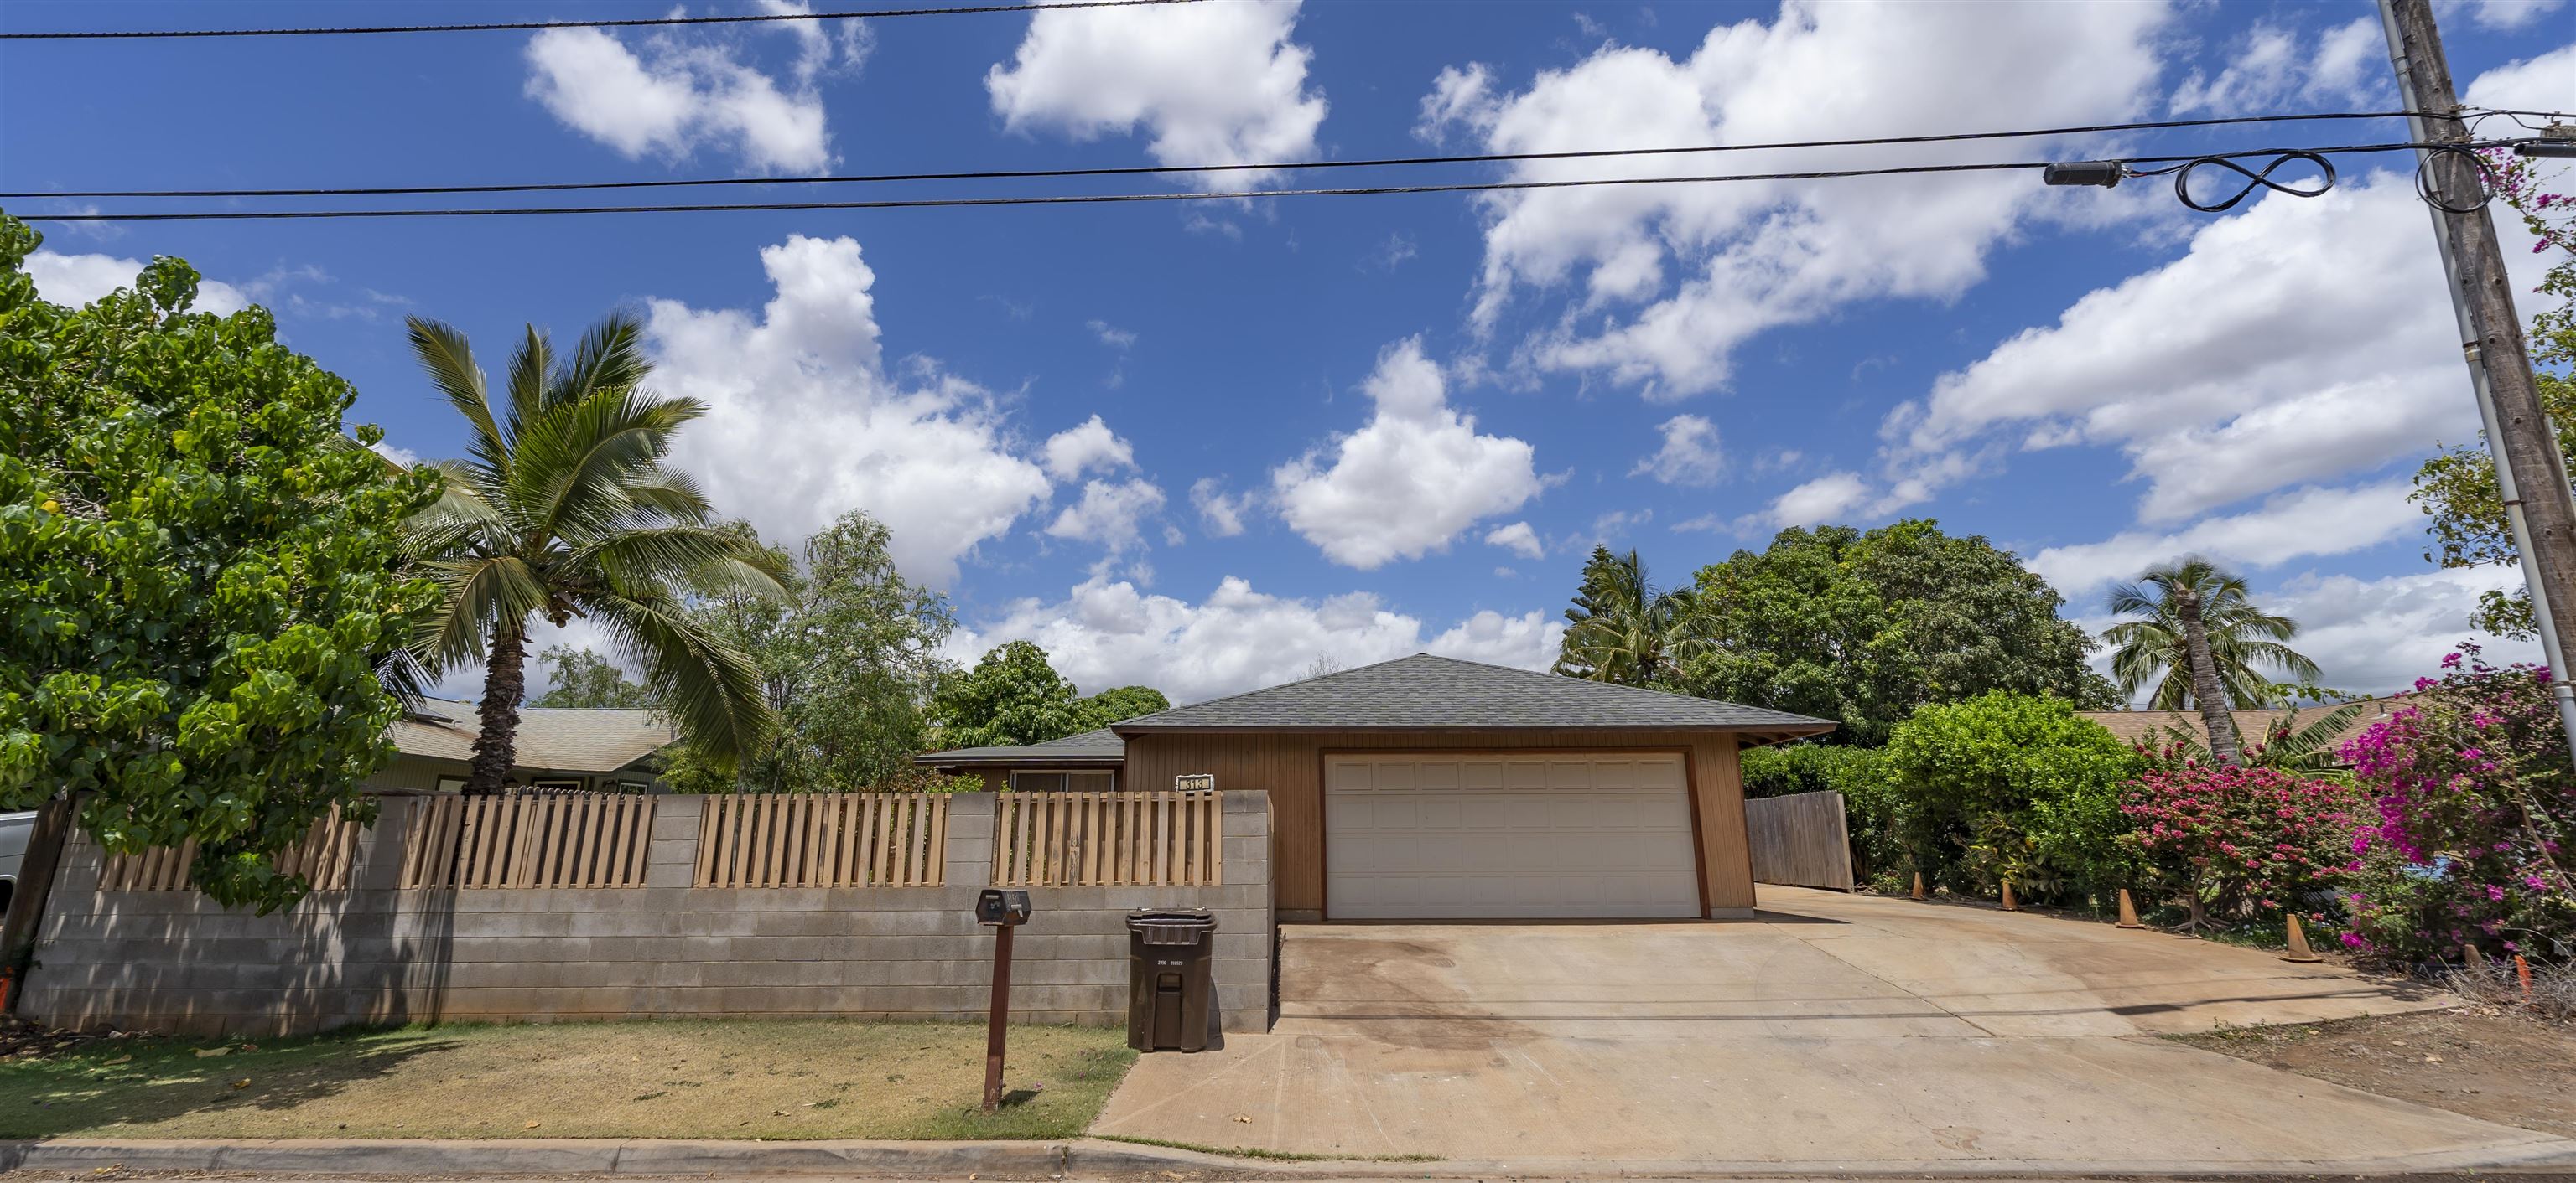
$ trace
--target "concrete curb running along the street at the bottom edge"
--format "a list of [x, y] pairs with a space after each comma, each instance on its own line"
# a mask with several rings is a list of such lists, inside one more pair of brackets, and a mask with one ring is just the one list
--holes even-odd
[[2053, 1162], [2053, 1160], [1862, 1160], [1862, 1162], [1705, 1162], [1705, 1160], [1255, 1160], [1133, 1142], [724, 1142], [724, 1139], [44, 1139], [0, 1142], [0, 1173], [237, 1175], [626, 1175], [626, 1178], [2228, 1178], [2228, 1175], [2414, 1175], [2414, 1173], [2571, 1173], [2576, 1142], [2532, 1139], [2506, 1147], [2447, 1150], [2388, 1160], [2275, 1162]]

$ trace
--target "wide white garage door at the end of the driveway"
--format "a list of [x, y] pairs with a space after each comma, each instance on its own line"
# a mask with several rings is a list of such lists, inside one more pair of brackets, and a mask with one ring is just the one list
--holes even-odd
[[1677, 754], [1324, 759], [1324, 910], [1700, 916]]

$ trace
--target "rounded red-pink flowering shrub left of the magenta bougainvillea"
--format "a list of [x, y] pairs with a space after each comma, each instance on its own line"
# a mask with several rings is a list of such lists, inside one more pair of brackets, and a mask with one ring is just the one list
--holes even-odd
[[2128, 782], [2120, 813], [2182, 890], [2195, 928], [2213, 913], [2324, 921], [2352, 841], [2352, 790], [2262, 766], [2151, 769]]

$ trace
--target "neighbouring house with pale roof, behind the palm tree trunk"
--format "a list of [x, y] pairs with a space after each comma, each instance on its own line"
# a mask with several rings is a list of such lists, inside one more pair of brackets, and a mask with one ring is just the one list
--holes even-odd
[[[394, 720], [392, 764], [374, 792], [456, 792], [474, 759], [482, 718], [471, 702], [420, 700]], [[659, 792], [662, 748], [680, 741], [657, 710], [520, 707], [510, 784], [531, 790]]]

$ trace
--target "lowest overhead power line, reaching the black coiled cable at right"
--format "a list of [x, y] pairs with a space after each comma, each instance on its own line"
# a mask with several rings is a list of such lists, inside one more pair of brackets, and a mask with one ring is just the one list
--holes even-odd
[[[2478, 141], [2470, 147], [2501, 147], [2506, 141]], [[2272, 157], [2282, 152], [2357, 154], [2357, 152], [2414, 152], [2421, 144], [2342, 144], [2313, 149], [2257, 149], [2221, 152], [2200, 157], [2123, 157], [2120, 165], [2172, 165], [2195, 159]], [[1734, 180], [1842, 180], [1842, 177], [1904, 177], [1940, 172], [2009, 172], [2045, 170], [2050, 159], [2012, 159], [1989, 165], [1891, 165], [1860, 170], [1806, 170], [1806, 172], [1721, 172], [1692, 177], [1579, 177], [1579, 180], [1461, 180], [1443, 185], [1358, 185], [1358, 188], [1280, 188], [1231, 193], [1043, 193], [994, 198], [881, 198], [881, 201], [757, 201], [757, 203], [701, 203], [701, 206], [502, 206], [502, 208], [289, 208], [289, 211], [188, 211], [188, 213], [28, 213], [26, 221], [304, 221], [304, 219], [510, 219], [510, 216], [562, 216], [562, 213], [781, 213], [781, 211], [855, 211], [855, 208], [969, 208], [969, 206], [1110, 206], [1136, 201], [1247, 201], [1247, 198], [1365, 198], [1394, 193], [1494, 193], [1494, 190], [1548, 190], [1548, 188], [1600, 188], [1600, 185], [1705, 185]]]

